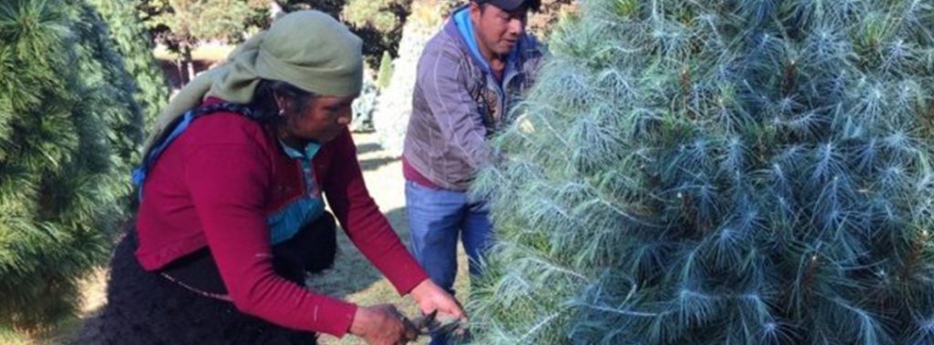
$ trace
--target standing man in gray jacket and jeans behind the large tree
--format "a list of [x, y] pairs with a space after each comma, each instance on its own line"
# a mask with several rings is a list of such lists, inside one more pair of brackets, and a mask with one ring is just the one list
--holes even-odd
[[525, 32], [528, 12], [539, 3], [473, 0], [455, 9], [418, 62], [403, 149], [411, 250], [432, 280], [452, 293], [458, 237], [472, 275], [492, 240], [487, 206], [469, 200], [467, 189], [494, 159], [486, 139], [508, 122], [542, 60], [541, 47]]

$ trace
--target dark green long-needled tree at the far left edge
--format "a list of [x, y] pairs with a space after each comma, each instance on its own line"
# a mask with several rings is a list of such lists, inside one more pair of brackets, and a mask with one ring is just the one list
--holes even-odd
[[83, 1], [0, 3], [0, 324], [72, 312], [106, 258], [142, 139], [132, 90]]

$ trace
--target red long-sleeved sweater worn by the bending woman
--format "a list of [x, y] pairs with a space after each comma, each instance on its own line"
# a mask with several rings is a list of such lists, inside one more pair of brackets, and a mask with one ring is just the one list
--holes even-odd
[[[323, 145], [313, 164], [348, 237], [396, 290], [407, 294], [427, 279], [370, 197], [350, 132]], [[343, 337], [354, 304], [315, 294], [273, 271], [265, 217], [304, 190], [300, 162], [282, 152], [271, 131], [233, 113], [196, 118], [143, 185], [136, 257], [143, 268], [156, 270], [206, 245], [238, 310]]]

